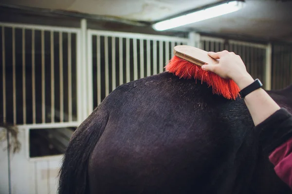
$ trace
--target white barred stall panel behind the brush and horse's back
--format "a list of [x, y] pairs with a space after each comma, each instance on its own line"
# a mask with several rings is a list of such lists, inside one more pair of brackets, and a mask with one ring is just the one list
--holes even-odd
[[[137, 80], [138, 78], [144, 78], [145, 76], [151, 76], [153, 74], [161, 73], [164, 70], [164, 60], [166, 63], [169, 61], [170, 57], [173, 56], [173, 47], [176, 43], [188, 44], [188, 39], [180, 37], [171, 37], [171, 36], [160, 36], [160, 35], [149, 35], [149, 34], [137, 34], [137, 33], [128, 33], [128, 32], [108, 32], [108, 31], [96, 31], [88, 30], [89, 36], [97, 37], [97, 80], [93, 81], [96, 83], [97, 88], [92, 90], [97, 94], [95, 104], [101, 103], [101, 95], [108, 96], [110, 91], [110, 83], [112, 90], [115, 89], [115, 79], [119, 79], [119, 85], [131, 81], [130, 78]], [[103, 40], [100, 37], [105, 37]], [[109, 38], [111, 38], [112, 43], [109, 45]], [[118, 38], [118, 44], [115, 43], [115, 38]], [[99, 43], [101, 41], [101, 43]], [[104, 41], [104, 42], [103, 42]], [[164, 48], [165, 41], [165, 48]], [[131, 43], [133, 42], [133, 44]], [[100, 44], [105, 44], [104, 48], [100, 48]], [[90, 44], [90, 42], [88, 42]], [[125, 45], [124, 45], [125, 44]], [[159, 52], [157, 52], [159, 46]], [[91, 46], [92, 47], [92, 46]], [[89, 52], [92, 52], [92, 49], [89, 48]], [[112, 64], [109, 64], [110, 57], [110, 47], [112, 54]], [[118, 48], [117, 48], [118, 47]], [[171, 47], [171, 48], [170, 48]], [[118, 49], [119, 53], [116, 53]], [[100, 56], [101, 53], [105, 53], [105, 56]], [[115, 55], [118, 55], [119, 60], [119, 69], [115, 69], [116, 58]], [[165, 58], [164, 58], [165, 55]], [[94, 55], [89, 55], [91, 58]], [[104, 57], [104, 60], [103, 60]], [[132, 58], [131, 58], [132, 57]], [[158, 60], [159, 59], [159, 65]], [[94, 59], [95, 60], [95, 59]], [[138, 64], [139, 62], [139, 64]], [[90, 65], [92, 65], [90, 63]], [[111, 72], [109, 69], [111, 67]], [[133, 69], [131, 69], [131, 67]], [[105, 69], [105, 72], [100, 72], [100, 68]], [[159, 68], [159, 69], [158, 69]], [[138, 72], [139, 71], [139, 72]], [[146, 71], [146, 72], [145, 72]], [[88, 72], [90, 73], [90, 72]], [[92, 72], [93, 74], [95, 72]], [[109, 80], [109, 74], [111, 73], [112, 79]], [[118, 75], [116, 77], [116, 74]], [[100, 81], [101, 76], [105, 77], [105, 81]], [[125, 79], [126, 78], [126, 79]], [[101, 92], [104, 92], [102, 93]], [[89, 93], [90, 94], [90, 93]], [[95, 96], [95, 95], [93, 95]], [[102, 96], [104, 98], [104, 96]]]

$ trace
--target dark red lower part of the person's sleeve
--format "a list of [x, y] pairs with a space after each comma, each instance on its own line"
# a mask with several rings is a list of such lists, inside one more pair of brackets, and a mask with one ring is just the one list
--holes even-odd
[[269, 156], [274, 164], [274, 170], [292, 189], [292, 138], [277, 147]]

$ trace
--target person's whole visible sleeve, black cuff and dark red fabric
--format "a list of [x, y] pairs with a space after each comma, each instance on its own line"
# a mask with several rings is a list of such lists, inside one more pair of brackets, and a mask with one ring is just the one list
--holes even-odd
[[256, 126], [275, 173], [292, 189], [292, 114], [281, 108]]

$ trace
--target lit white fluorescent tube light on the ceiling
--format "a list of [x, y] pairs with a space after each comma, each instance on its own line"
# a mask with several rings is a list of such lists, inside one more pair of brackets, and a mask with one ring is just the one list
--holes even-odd
[[167, 19], [152, 25], [156, 31], [164, 31], [171, 28], [176, 28], [179, 26], [184, 26], [194, 22], [202, 21], [205, 19], [210, 19], [217, 16], [222, 16], [243, 7], [242, 1], [229, 1], [223, 4], [216, 5], [214, 7], [206, 8], [197, 12], [193, 12], [184, 16], [178, 16], [172, 19]]

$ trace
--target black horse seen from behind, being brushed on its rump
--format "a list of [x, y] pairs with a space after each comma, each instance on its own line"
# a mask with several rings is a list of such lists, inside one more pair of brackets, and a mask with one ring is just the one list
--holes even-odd
[[[292, 111], [292, 86], [269, 92]], [[240, 98], [164, 72], [117, 87], [76, 129], [59, 194], [285, 194]]]

